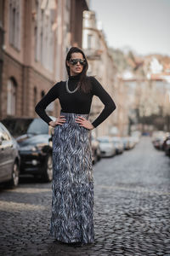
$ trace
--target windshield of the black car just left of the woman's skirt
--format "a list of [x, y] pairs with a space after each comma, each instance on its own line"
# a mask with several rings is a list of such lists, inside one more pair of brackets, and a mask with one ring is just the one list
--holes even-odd
[[48, 134], [48, 124], [46, 124], [42, 119], [33, 119], [28, 127], [27, 133]]

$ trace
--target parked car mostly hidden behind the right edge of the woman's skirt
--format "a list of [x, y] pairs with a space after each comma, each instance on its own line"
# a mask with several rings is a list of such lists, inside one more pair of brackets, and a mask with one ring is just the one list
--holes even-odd
[[93, 132], [91, 133], [91, 146], [92, 146], [92, 160], [93, 160], [93, 164], [95, 164], [101, 158], [101, 151], [99, 148], [99, 141], [97, 140]]

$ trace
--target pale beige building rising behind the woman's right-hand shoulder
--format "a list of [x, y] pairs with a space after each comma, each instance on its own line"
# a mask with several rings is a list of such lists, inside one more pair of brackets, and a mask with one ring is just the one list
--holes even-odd
[[[109, 53], [104, 33], [97, 27], [95, 13], [83, 12], [82, 48], [88, 57], [88, 75], [93, 75], [104, 86], [116, 102], [116, 67]], [[95, 119], [104, 108], [99, 98], [94, 96], [91, 108], [91, 119]], [[116, 125], [115, 113], [96, 129], [97, 136], [109, 135]]]

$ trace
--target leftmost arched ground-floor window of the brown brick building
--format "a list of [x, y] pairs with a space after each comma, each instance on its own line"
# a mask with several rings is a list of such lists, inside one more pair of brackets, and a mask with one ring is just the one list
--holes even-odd
[[16, 113], [16, 90], [17, 84], [14, 79], [9, 79], [7, 84], [7, 114], [15, 115]]

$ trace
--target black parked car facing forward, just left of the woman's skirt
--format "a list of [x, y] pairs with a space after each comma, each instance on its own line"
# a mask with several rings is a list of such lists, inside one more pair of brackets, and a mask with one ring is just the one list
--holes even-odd
[[[51, 117], [55, 119], [54, 117]], [[54, 128], [40, 118], [3, 119], [20, 146], [20, 175], [41, 176], [46, 182], [53, 178], [52, 136]], [[19, 127], [19, 129], [18, 129]], [[23, 133], [19, 136], [19, 133]], [[18, 133], [18, 134], [17, 134]]]

